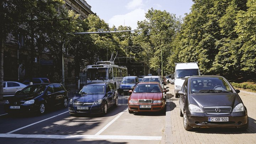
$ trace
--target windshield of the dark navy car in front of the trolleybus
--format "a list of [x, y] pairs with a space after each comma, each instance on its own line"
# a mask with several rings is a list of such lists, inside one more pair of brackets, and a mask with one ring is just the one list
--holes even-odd
[[104, 94], [104, 87], [102, 85], [86, 85], [80, 90], [79, 94]]

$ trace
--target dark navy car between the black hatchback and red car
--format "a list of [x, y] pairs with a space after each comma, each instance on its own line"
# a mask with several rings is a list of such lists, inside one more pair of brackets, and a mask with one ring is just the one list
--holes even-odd
[[118, 94], [113, 83], [91, 82], [86, 84], [69, 101], [69, 113], [103, 113], [111, 106], [117, 107]]

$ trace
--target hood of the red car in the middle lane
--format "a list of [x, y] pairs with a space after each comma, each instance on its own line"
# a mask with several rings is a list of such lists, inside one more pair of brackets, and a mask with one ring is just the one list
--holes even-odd
[[138, 100], [138, 99], [161, 100], [162, 95], [163, 95], [162, 93], [132, 93], [132, 95], [130, 95], [130, 99], [132, 99], [132, 100]]

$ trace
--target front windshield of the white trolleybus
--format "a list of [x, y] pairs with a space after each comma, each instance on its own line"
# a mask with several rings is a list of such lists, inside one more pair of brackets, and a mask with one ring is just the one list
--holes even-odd
[[108, 80], [108, 68], [88, 69], [87, 80]]

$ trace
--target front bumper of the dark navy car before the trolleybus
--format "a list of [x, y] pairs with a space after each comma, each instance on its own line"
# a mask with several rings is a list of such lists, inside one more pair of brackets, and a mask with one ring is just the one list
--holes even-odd
[[[88, 107], [88, 110], [78, 110], [77, 107]], [[69, 106], [69, 113], [82, 114], [82, 113], [102, 113], [102, 105], [95, 106]]]

